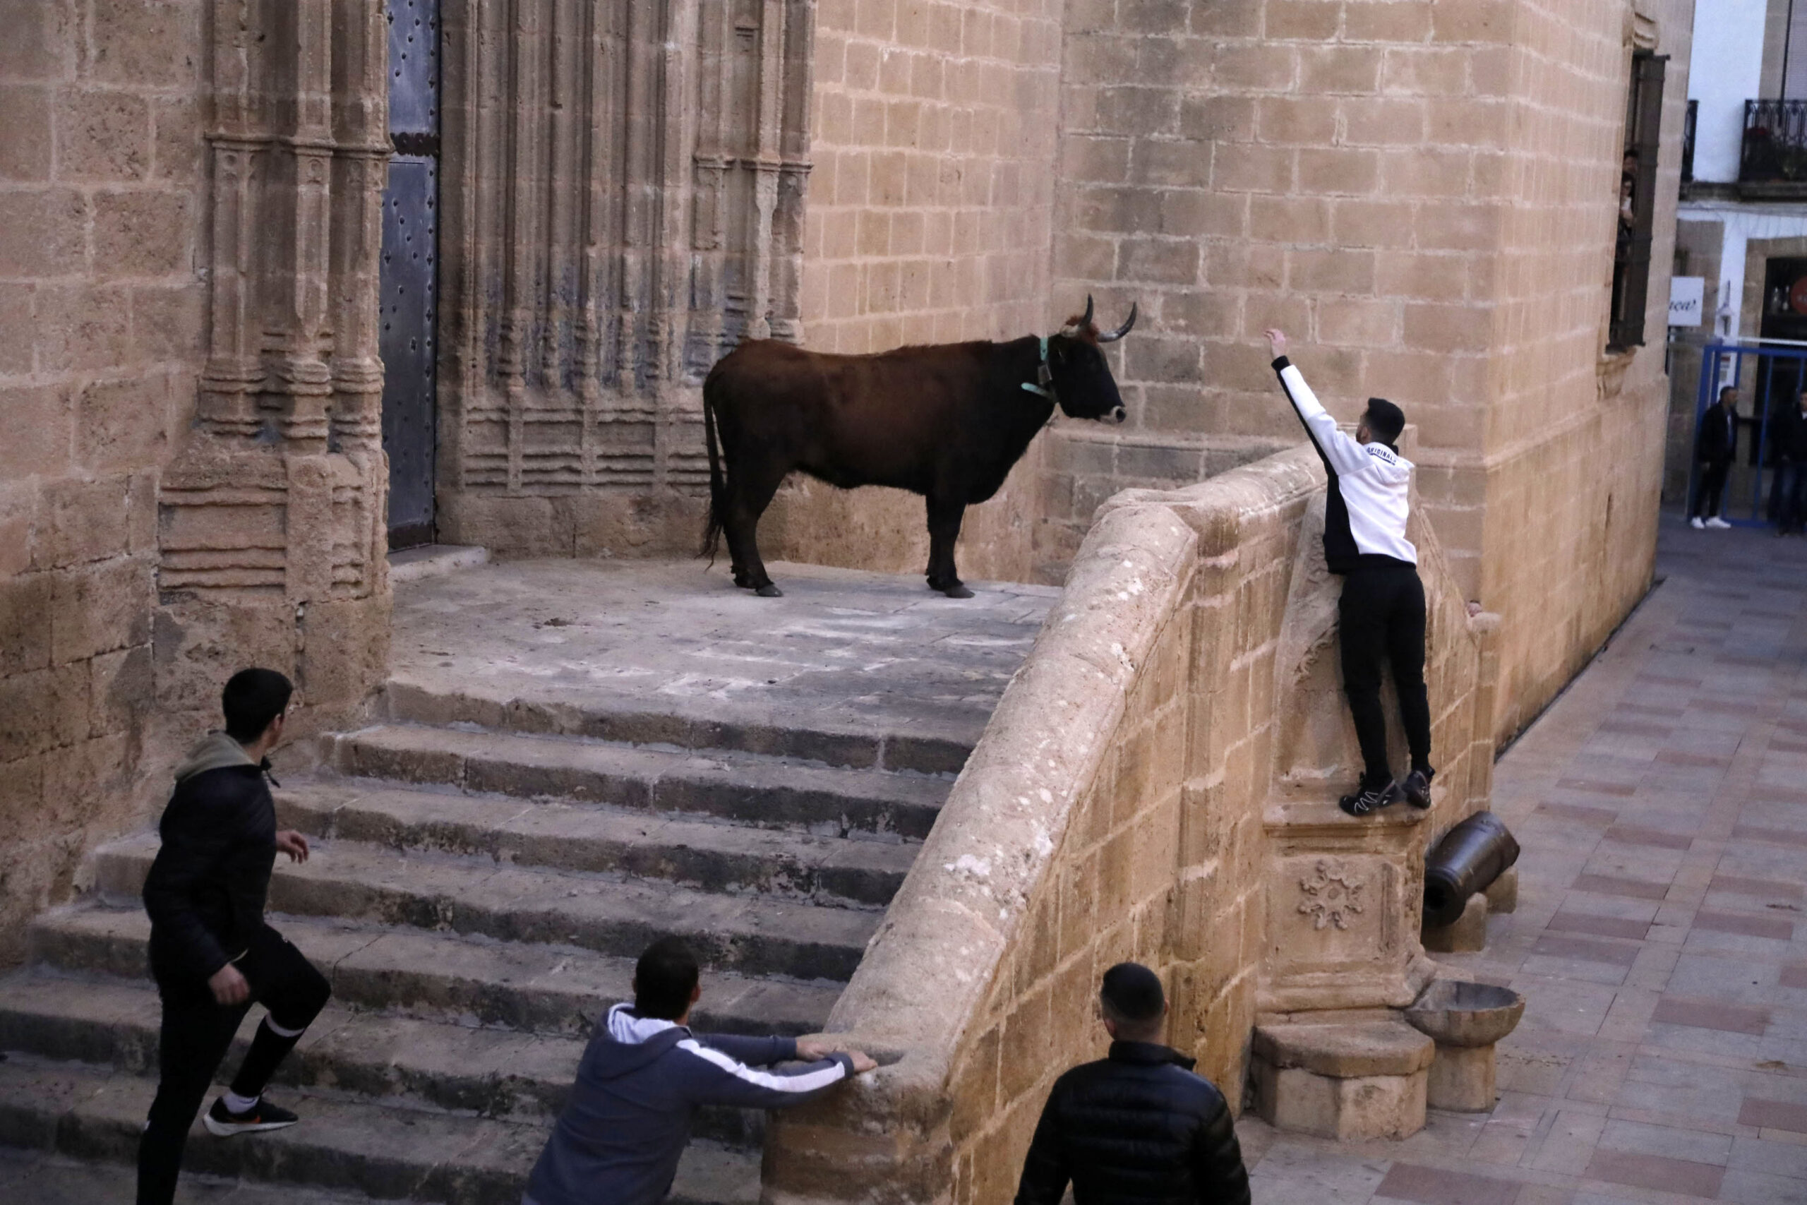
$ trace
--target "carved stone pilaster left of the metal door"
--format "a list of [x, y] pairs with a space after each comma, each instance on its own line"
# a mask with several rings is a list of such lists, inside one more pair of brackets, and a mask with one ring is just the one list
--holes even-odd
[[387, 659], [383, 9], [213, 0], [211, 29], [210, 347], [159, 497], [157, 688], [211, 710], [226, 674], [269, 665], [305, 728]]

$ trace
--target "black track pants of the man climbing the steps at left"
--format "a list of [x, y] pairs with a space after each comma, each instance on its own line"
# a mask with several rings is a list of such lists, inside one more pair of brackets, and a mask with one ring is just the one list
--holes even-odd
[[204, 979], [152, 967], [157, 995], [163, 997], [163, 1032], [157, 1046], [157, 1098], [150, 1102], [150, 1120], [137, 1144], [137, 1205], [170, 1205], [175, 1196], [188, 1129], [195, 1124], [213, 1073], [251, 1003], [264, 1004], [269, 1017], [258, 1024], [257, 1039], [231, 1084], [240, 1097], [264, 1091], [276, 1062], [298, 1041], [298, 1033], [275, 1033], [269, 1023], [291, 1033], [305, 1030], [332, 995], [325, 976], [269, 927], [237, 967], [251, 985], [251, 999], [231, 1006], [217, 1003]]

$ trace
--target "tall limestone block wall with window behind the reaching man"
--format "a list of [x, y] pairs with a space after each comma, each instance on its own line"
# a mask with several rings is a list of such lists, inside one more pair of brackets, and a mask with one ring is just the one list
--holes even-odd
[[[1140, 300], [1133, 437], [1294, 437], [1269, 325], [1343, 417], [1399, 401], [1451, 567], [1503, 616], [1502, 733], [1648, 584], [1690, 25], [1679, 0], [1068, 5], [1053, 287]], [[1670, 54], [1661, 204], [1648, 345], [1608, 358], [1634, 49]]]

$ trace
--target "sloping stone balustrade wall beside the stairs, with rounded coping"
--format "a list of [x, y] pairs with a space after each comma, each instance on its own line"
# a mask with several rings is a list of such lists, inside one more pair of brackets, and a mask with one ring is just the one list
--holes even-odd
[[[1355, 773], [1323, 482], [1301, 448], [1099, 513], [829, 1017], [889, 1066], [773, 1115], [763, 1200], [1008, 1201], [1053, 1079], [1108, 1046], [1093, 999], [1126, 957], [1162, 974], [1171, 1044], [1240, 1102], [1258, 1008], [1299, 1006], [1261, 1003], [1269, 950], [1312, 925], [1269, 826], [1301, 800], [1335, 811]], [[1420, 829], [1440, 829], [1485, 806], [1491, 701], [1484, 636], [1415, 535], [1442, 789]], [[1350, 939], [1386, 927], [1390, 956], [1422, 961], [1411, 892]]]

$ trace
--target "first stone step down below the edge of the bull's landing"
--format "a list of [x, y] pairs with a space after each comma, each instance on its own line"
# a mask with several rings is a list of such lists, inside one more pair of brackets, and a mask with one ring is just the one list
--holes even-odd
[[416, 724], [340, 733], [332, 737], [332, 764], [361, 779], [911, 840], [929, 835], [952, 789], [947, 777]]

